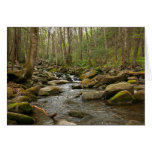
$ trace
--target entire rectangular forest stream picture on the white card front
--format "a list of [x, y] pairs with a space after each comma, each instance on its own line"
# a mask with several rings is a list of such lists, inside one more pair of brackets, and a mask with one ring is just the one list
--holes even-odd
[[8, 27], [8, 125], [144, 125], [144, 27]]

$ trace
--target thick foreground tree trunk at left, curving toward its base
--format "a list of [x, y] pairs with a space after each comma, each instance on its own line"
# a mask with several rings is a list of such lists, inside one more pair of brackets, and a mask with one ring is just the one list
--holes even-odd
[[24, 79], [29, 79], [32, 77], [33, 68], [36, 60], [37, 55], [37, 46], [38, 46], [38, 35], [39, 35], [39, 28], [38, 27], [31, 27], [30, 29], [30, 51], [28, 55], [28, 60], [23, 69], [22, 77]]

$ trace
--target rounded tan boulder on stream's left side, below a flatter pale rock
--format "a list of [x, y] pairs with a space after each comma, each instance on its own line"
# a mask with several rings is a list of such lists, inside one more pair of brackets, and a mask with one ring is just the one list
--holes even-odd
[[40, 96], [56, 95], [61, 92], [60, 88], [57, 86], [47, 86], [41, 88], [39, 91]]

